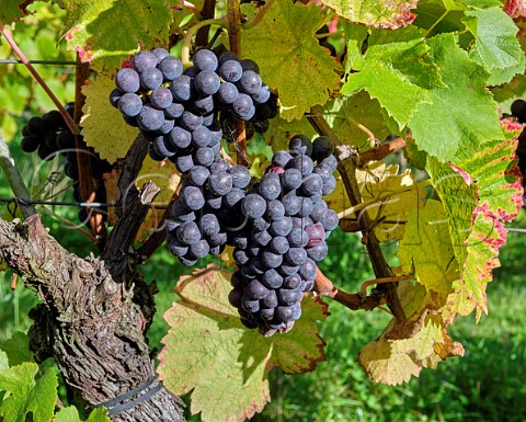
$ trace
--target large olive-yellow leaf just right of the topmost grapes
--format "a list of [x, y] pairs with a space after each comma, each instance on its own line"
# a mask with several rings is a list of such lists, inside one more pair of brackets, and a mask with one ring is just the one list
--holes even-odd
[[287, 121], [323, 105], [340, 89], [340, 65], [315, 38], [324, 18], [317, 4], [276, 1], [258, 25], [242, 31], [243, 57], [255, 60], [263, 81], [279, 92]]

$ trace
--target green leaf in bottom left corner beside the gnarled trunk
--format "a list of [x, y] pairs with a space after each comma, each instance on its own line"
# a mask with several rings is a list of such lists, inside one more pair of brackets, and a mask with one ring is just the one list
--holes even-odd
[[38, 365], [23, 363], [0, 372], [0, 391], [8, 391], [0, 403], [4, 422], [25, 421], [28, 412], [34, 422], [49, 422], [57, 401], [57, 375], [49, 368], [35, 380]]

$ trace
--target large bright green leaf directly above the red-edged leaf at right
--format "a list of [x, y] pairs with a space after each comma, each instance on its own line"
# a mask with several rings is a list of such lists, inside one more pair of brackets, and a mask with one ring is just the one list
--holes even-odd
[[485, 70], [456, 45], [453, 34], [428, 43], [447, 87], [433, 89], [432, 103], [421, 103], [409, 124], [419, 149], [446, 161], [459, 150], [476, 151], [483, 142], [502, 139], [495, 103], [485, 91]]

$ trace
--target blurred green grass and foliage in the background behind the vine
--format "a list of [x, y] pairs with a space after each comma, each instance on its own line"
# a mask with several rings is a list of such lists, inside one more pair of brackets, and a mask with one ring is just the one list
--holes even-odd
[[[15, 26], [15, 39], [30, 59], [72, 60], [59, 42], [60, 13], [49, 3], [35, 2], [35, 14]], [[53, 10], [53, 14], [50, 11]], [[37, 11], [37, 12], [36, 12]], [[58, 18], [57, 18], [58, 16]], [[0, 59], [15, 58], [9, 46], [0, 45]], [[64, 103], [73, 99], [75, 75], [71, 66], [38, 66], [38, 71]], [[507, 99], [508, 100], [508, 99]], [[50, 100], [20, 65], [0, 64], [0, 128], [12, 139], [10, 148], [19, 170], [32, 192], [43, 191], [43, 197], [72, 201], [71, 190], [57, 195], [67, 186], [52, 181], [60, 172], [56, 161], [42, 163], [37, 157], [24, 155], [19, 147], [20, 129], [32, 115], [54, 109]], [[507, 110], [503, 110], [506, 112]], [[5, 178], [0, 173], [0, 197], [12, 196]], [[81, 256], [94, 251], [93, 243], [78, 230], [65, 225], [50, 213], [77, 221], [72, 207], [39, 207], [44, 224], [62, 246]], [[14, 204], [0, 204], [3, 218], [15, 215]], [[523, 212], [510, 227], [526, 228]], [[330, 255], [320, 265], [340, 287], [356, 292], [361, 283], [373, 277], [370, 264], [359, 238], [335, 231], [330, 238]], [[396, 244], [386, 246], [390, 262]], [[327, 342], [327, 361], [313, 373], [286, 376], [279, 369], [270, 374], [273, 400], [254, 421], [478, 421], [523, 422], [526, 420], [526, 297], [524, 256], [526, 233], [510, 232], [502, 249], [502, 267], [488, 286], [490, 316], [476, 324], [473, 317], [460, 319], [450, 329], [453, 338], [466, 349], [462, 358], [450, 358], [436, 370], [424, 369], [420, 378], [387, 387], [370, 383], [357, 363], [362, 346], [380, 334], [389, 315], [381, 310], [351, 312], [336, 303], [329, 304], [331, 317], [320, 326]], [[199, 263], [204, 265], [205, 262]], [[140, 271], [156, 282], [158, 313], [149, 332], [151, 346], [159, 350], [168, 324], [163, 312], [176, 300], [173, 286], [183, 273], [167, 250], [161, 247]], [[13, 289], [13, 283], [15, 288]], [[23, 287], [10, 271], [0, 273], [0, 340], [31, 326], [28, 310], [37, 303], [34, 292]], [[187, 399], [187, 398], [186, 398]], [[199, 421], [197, 417], [188, 421]]]

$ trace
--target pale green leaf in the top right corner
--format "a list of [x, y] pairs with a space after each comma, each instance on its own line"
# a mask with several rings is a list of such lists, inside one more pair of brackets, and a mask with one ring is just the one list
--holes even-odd
[[490, 85], [510, 82], [524, 72], [526, 58], [516, 37], [518, 28], [501, 8], [466, 12], [466, 16], [464, 23], [476, 36], [469, 55], [491, 73]]

